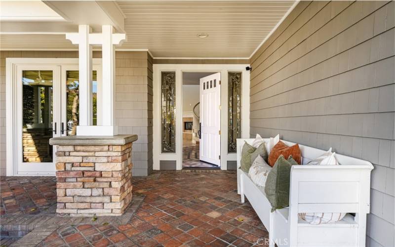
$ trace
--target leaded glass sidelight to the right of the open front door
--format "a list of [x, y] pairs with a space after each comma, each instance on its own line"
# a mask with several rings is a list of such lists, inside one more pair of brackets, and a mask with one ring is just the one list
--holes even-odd
[[241, 137], [241, 72], [228, 73], [228, 153], [236, 153]]

